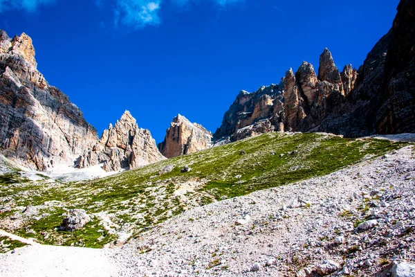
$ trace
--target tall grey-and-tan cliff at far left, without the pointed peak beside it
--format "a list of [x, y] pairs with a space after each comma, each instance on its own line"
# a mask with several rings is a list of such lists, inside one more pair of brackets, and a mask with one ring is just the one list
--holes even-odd
[[0, 30], [0, 151], [47, 170], [73, 162], [97, 133], [36, 66], [32, 39], [24, 33], [10, 39]]

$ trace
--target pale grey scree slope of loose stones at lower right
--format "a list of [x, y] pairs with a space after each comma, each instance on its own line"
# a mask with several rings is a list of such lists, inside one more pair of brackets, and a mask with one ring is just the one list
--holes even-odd
[[403, 148], [185, 211], [113, 257], [122, 276], [386, 277], [392, 262], [408, 274], [394, 276], [414, 276], [414, 179]]

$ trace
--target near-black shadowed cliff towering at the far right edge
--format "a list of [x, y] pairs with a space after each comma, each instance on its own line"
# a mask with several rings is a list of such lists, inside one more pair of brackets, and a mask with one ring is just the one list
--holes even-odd
[[376, 131], [415, 132], [415, 1], [399, 3], [382, 88], [385, 101], [376, 114]]

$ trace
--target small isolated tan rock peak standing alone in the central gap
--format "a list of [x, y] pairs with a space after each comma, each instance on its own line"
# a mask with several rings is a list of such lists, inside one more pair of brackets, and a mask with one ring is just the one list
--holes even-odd
[[210, 148], [211, 142], [212, 133], [179, 114], [173, 119], [165, 140], [159, 143], [158, 148], [165, 157], [173, 158]]

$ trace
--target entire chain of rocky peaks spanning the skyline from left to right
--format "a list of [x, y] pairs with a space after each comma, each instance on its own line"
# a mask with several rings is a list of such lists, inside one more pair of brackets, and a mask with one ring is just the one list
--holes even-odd
[[[286, 71], [280, 84], [254, 93], [241, 91], [213, 135], [187, 119], [181, 120], [186, 124], [177, 124], [176, 117], [159, 144], [161, 152], [176, 157], [217, 141], [238, 141], [264, 132], [329, 132], [348, 137], [415, 132], [414, 6], [414, 1], [400, 1], [391, 30], [358, 70], [346, 65], [340, 72], [325, 48], [317, 73], [312, 64], [303, 62], [297, 71]], [[163, 159], [151, 134], [139, 132], [132, 123], [135, 119], [114, 131], [117, 139], [98, 139], [80, 109], [37, 71], [35, 48], [25, 33], [10, 39], [1, 30], [0, 55], [0, 149], [6, 156], [39, 170], [57, 163], [80, 168], [104, 163], [106, 170], [122, 170]], [[131, 145], [135, 135], [130, 131], [144, 141]], [[117, 145], [117, 140], [122, 143]]]

